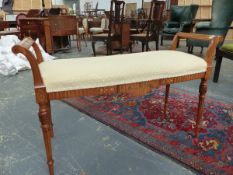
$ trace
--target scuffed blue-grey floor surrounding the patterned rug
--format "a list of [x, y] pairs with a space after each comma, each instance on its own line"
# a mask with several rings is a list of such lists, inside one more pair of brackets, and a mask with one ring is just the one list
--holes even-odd
[[[169, 48], [170, 42], [162, 49]], [[140, 45], [135, 45], [139, 50]], [[154, 49], [154, 44], [151, 45]], [[184, 47], [181, 46], [181, 50]], [[55, 56], [91, 56], [90, 43]], [[219, 83], [208, 97], [233, 102], [233, 61], [224, 59]], [[198, 92], [198, 81], [174, 85]], [[197, 172], [151, 151], [60, 101], [52, 102], [56, 175], [193, 175]], [[47, 175], [31, 71], [0, 77], [0, 175]]]

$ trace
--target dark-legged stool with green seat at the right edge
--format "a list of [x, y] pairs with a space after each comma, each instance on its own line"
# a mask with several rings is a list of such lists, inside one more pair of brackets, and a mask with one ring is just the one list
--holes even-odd
[[218, 82], [219, 72], [221, 69], [222, 58], [233, 60], [233, 44], [224, 44], [221, 48], [217, 48], [216, 51], [216, 66], [214, 70], [213, 81]]

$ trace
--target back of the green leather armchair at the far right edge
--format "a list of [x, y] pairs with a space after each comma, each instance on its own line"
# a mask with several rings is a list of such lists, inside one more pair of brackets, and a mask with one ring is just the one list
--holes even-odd
[[211, 27], [228, 31], [233, 20], [232, 0], [213, 0]]

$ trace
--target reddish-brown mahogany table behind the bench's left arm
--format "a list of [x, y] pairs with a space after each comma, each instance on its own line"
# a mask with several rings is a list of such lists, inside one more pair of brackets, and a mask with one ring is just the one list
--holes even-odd
[[[77, 35], [77, 19], [75, 16], [49, 16], [48, 18], [19, 19], [21, 37], [39, 38], [46, 52], [52, 54], [56, 50], [68, 46], [68, 35]], [[64, 25], [65, 24], [65, 25]], [[80, 50], [79, 36], [77, 48]]]

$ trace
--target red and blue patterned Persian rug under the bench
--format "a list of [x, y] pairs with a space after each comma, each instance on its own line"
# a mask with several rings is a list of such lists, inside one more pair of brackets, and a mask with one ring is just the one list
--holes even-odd
[[142, 97], [124, 94], [66, 99], [81, 112], [202, 174], [233, 174], [233, 104], [206, 98], [199, 138], [193, 137], [198, 95], [163, 88]]

